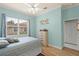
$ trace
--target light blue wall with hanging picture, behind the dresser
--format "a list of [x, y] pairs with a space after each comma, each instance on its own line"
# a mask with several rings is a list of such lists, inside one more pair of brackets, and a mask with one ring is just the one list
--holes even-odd
[[[40, 21], [46, 18], [48, 19], [49, 24], [41, 24]], [[61, 7], [37, 16], [37, 33], [39, 33], [40, 29], [48, 29], [48, 42], [50, 45], [62, 48]]]

